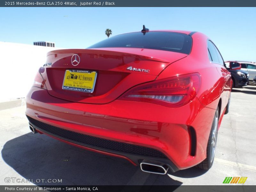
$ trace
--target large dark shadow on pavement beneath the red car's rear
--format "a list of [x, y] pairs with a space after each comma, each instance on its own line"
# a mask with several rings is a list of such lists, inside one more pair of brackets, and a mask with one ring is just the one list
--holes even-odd
[[[36, 181], [36, 185], [179, 186], [182, 182], [173, 180], [172, 175], [189, 178], [205, 173], [190, 168], [169, 176], [150, 174], [124, 159], [76, 148], [39, 133], [27, 133], [7, 141], [1, 153], [6, 164], [25, 179]], [[48, 179], [62, 179], [62, 182], [45, 182]]]

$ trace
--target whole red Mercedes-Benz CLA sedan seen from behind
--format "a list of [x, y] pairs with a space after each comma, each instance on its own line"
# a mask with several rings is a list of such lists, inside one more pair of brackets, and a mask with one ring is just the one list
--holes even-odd
[[48, 52], [27, 95], [33, 132], [165, 174], [213, 164], [232, 79], [202, 33], [117, 35]]

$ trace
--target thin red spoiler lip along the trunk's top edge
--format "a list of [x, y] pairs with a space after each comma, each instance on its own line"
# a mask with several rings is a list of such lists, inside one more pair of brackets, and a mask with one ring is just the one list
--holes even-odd
[[[91, 53], [91, 54], [118, 55], [118, 56], [126, 56], [126, 57], [136, 57], [136, 58], [145, 59], [145, 60], [153, 60], [153, 61], [158, 61], [163, 63], [170, 63], [170, 61], [160, 59], [160, 58], [153, 58], [153, 57], [148, 57], [148, 56], [129, 53], [129, 52], [116, 52], [116, 51], [107, 51], [107, 50], [100, 50], [100, 49], [60, 49], [60, 50], [54, 50], [54, 51], [48, 52], [47, 56], [52, 54], [60, 54], [60, 53], [70, 53], [70, 54]], [[181, 53], [181, 54], [184, 54], [184, 53]]]

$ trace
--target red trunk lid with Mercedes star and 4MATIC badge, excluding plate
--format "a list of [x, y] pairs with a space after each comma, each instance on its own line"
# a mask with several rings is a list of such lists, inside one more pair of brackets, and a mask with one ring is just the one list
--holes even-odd
[[[40, 69], [40, 73], [49, 94], [54, 97], [104, 104], [135, 85], [155, 80], [167, 65], [186, 56], [184, 53], [139, 48], [56, 50], [48, 52], [45, 67]], [[67, 70], [96, 72], [93, 92], [63, 89]]]

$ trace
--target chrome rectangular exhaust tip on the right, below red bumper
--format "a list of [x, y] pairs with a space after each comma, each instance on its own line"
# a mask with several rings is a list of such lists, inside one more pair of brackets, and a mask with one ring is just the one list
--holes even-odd
[[161, 163], [141, 162], [140, 169], [143, 172], [165, 175], [169, 167]]

